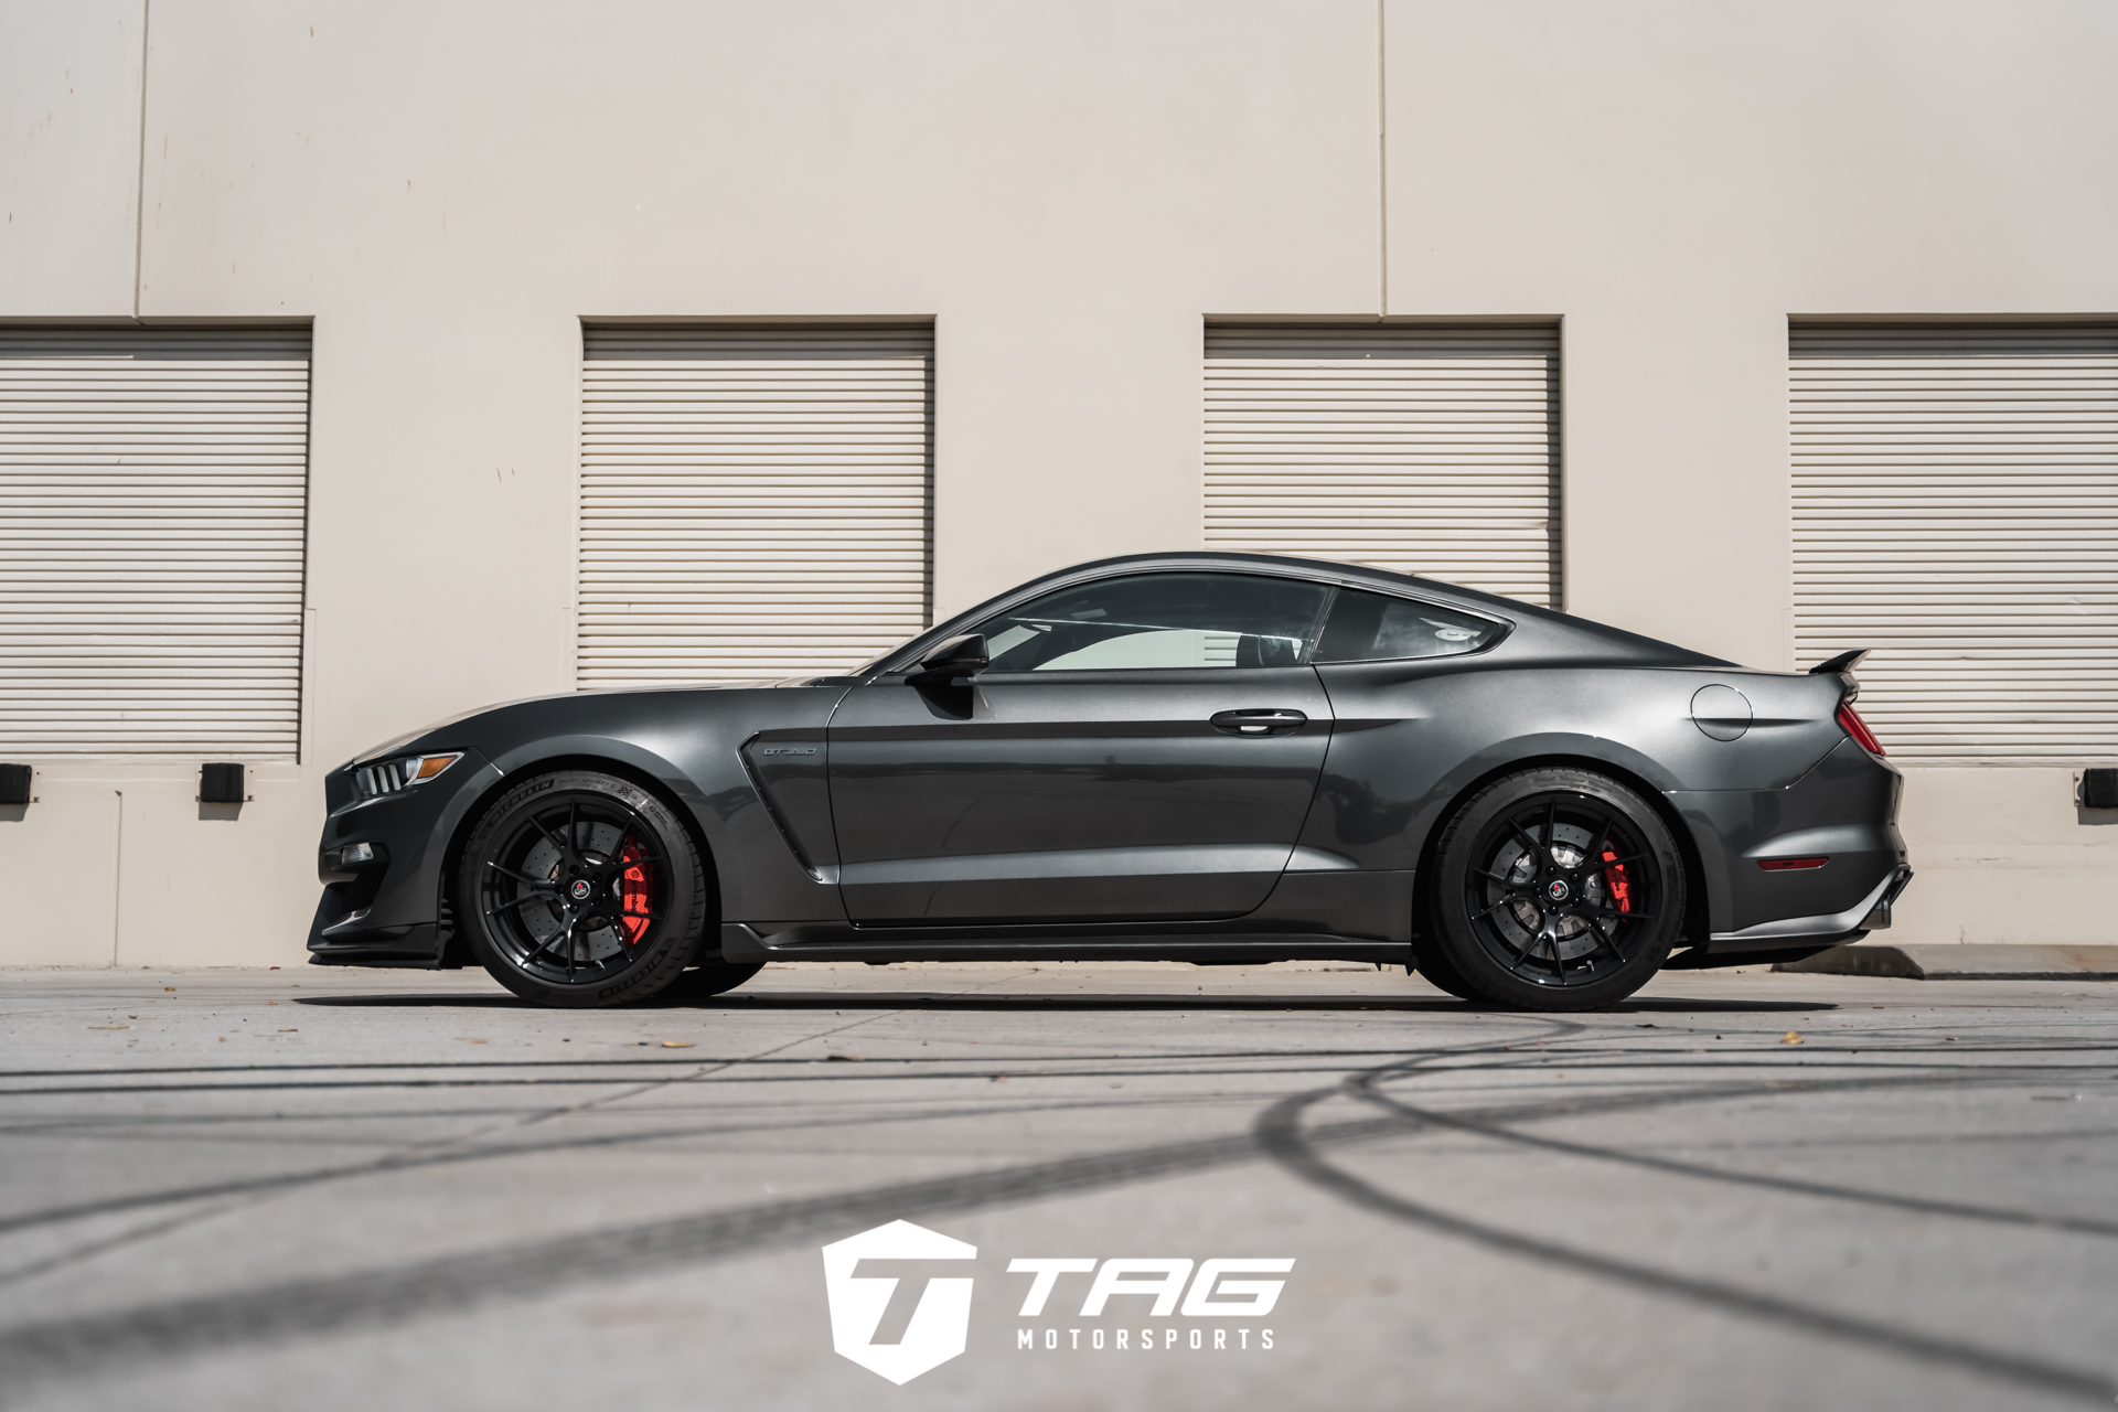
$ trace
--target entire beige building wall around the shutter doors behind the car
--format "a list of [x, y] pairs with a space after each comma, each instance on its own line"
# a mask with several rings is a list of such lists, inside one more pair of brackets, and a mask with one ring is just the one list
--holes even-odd
[[[297, 963], [322, 768], [570, 686], [585, 318], [932, 318], [940, 612], [1199, 542], [1203, 318], [1561, 318], [1569, 605], [1779, 667], [1788, 318], [2118, 309], [2095, 2], [157, 0], [144, 121], [142, 19], [0, 13], [0, 318], [313, 320], [305, 756], [51, 762], [0, 961]], [[2105, 940], [2063, 773], [1906, 821]]]

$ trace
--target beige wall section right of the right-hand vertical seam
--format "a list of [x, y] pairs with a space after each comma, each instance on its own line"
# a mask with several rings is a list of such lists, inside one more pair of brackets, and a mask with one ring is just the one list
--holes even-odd
[[[1790, 318], [2118, 313], [2110, 4], [1385, 17], [1389, 311], [1565, 315], [1574, 612], [1792, 665]], [[2118, 940], [2071, 798], [1908, 768], [1893, 940]]]

